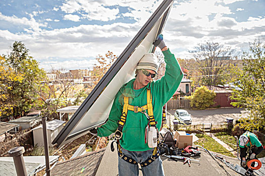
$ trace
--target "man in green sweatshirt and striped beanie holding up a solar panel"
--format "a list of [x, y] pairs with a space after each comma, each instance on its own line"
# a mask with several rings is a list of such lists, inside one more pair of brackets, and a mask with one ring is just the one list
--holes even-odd
[[153, 44], [165, 56], [165, 75], [152, 81], [159, 66], [157, 57], [153, 53], [145, 54], [137, 64], [135, 78], [117, 93], [107, 123], [90, 130], [99, 137], [115, 132], [120, 176], [138, 175], [138, 163], [143, 175], [164, 175], [157, 134], [162, 124], [163, 106], [178, 89], [183, 73], [165, 45], [163, 35], [159, 35]]

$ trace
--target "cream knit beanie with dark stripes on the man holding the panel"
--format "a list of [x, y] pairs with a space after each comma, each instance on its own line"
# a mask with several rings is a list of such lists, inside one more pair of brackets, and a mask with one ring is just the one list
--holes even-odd
[[157, 74], [158, 70], [158, 59], [154, 53], [147, 53], [141, 58], [137, 64], [136, 69], [149, 69], [155, 71]]

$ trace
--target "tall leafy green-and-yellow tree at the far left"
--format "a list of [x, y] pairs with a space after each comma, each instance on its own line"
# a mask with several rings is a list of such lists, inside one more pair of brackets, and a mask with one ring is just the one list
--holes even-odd
[[[38, 62], [29, 56], [29, 50], [25, 45], [18, 41], [14, 42], [11, 53], [5, 59], [5, 64], [14, 75], [21, 76], [19, 79], [8, 81], [11, 88], [6, 91], [5, 95], [13, 105], [12, 112], [9, 114], [23, 116], [35, 106], [38, 99], [36, 91], [41, 86], [45, 72], [39, 68]], [[8, 87], [8, 82], [4, 82], [4, 86]]]

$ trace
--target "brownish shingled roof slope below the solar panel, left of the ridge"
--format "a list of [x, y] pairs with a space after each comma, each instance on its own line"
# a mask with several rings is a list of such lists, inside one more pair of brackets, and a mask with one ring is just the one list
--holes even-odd
[[88, 152], [82, 156], [58, 162], [51, 169], [50, 175], [95, 175], [105, 148]]

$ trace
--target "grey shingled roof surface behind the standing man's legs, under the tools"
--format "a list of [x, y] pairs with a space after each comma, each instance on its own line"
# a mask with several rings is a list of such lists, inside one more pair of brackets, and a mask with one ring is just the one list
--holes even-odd
[[[96, 176], [100, 175], [117, 175], [118, 174], [118, 154], [117, 149], [114, 152], [111, 151], [110, 147], [111, 141], [107, 146], [107, 149], [104, 153], [102, 161], [99, 164]], [[116, 148], [116, 145], [114, 145]], [[226, 166], [221, 160], [218, 160], [211, 157], [207, 152], [200, 149], [201, 155], [199, 162], [191, 161], [191, 167], [188, 164], [183, 165], [182, 161], [175, 161], [169, 159], [165, 156], [162, 156], [163, 167], [165, 175], [203, 175], [203, 176], [227, 176], [227, 175], [240, 175], [236, 171], [232, 170]], [[240, 161], [237, 158], [228, 157], [222, 154], [218, 155], [224, 157], [230, 163], [234, 165], [240, 164]], [[220, 166], [222, 165], [222, 166]], [[229, 174], [227, 174], [229, 173]], [[139, 172], [139, 175], [142, 175], [142, 172]]]

